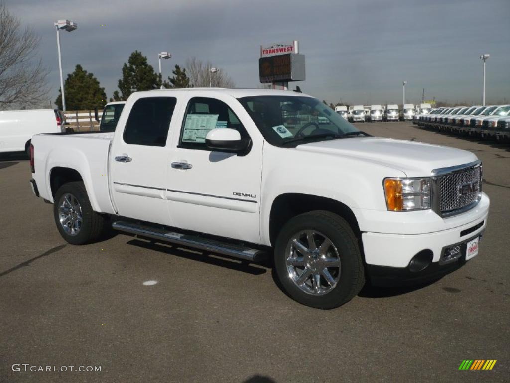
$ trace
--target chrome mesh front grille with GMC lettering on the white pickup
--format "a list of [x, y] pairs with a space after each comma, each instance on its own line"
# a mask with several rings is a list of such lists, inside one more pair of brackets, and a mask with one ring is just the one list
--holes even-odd
[[481, 162], [432, 171], [432, 204], [440, 216], [460, 214], [481, 197]]

